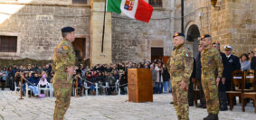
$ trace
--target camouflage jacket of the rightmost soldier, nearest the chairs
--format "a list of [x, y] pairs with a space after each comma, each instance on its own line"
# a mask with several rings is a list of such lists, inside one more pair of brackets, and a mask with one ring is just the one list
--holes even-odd
[[215, 50], [213, 47], [211, 47], [210, 49], [205, 49], [203, 52], [201, 52], [201, 65], [202, 65], [202, 74], [206, 76], [214, 75], [215, 78], [222, 77], [223, 75], [222, 57], [220, 55], [220, 52]]

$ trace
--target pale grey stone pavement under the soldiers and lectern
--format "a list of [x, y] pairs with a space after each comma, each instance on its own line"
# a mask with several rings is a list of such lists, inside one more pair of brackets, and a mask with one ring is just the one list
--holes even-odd
[[[0, 91], [0, 120], [51, 120], [54, 97], [18, 99], [13, 91]], [[71, 97], [65, 120], [176, 120], [170, 105], [171, 94], [154, 95], [154, 102], [132, 103], [127, 95]], [[241, 105], [233, 111], [220, 112], [220, 120], [256, 120], [250, 103], [242, 112]], [[206, 109], [189, 107], [190, 120], [202, 120]]]

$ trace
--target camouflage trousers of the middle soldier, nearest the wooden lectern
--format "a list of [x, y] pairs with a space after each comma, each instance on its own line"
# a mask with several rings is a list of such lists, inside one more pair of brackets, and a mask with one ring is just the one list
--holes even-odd
[[[180, 78], [172, 79], [172, 95], [178, 120], [189, 120], [188, 118], [188, 101], [187, 90], [185, 91], [180, 85]], [[186, 85], [188, 87], [188, 85]]]

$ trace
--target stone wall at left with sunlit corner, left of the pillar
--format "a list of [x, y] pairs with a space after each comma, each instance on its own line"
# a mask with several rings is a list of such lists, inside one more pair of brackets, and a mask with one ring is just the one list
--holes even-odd
[[0, 16], [0, 35], [18, 36], [19, 50], [1, 52], [2, 59], [52, 60], [63, 26], [90, 35], [90, 5], [72, 5], [71, 0], [1, 0]]

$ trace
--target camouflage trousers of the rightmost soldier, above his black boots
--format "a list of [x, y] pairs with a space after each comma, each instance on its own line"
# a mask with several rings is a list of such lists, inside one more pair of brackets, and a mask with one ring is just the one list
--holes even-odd
[[218, 88], [216, 86], [216, 78], [211, 76], [202, 75], [202, 87], [204, 90], [204, 97], [206, 100], [207, 112], [208, 114], [218, 114], [219, 113], [219, 97]]

